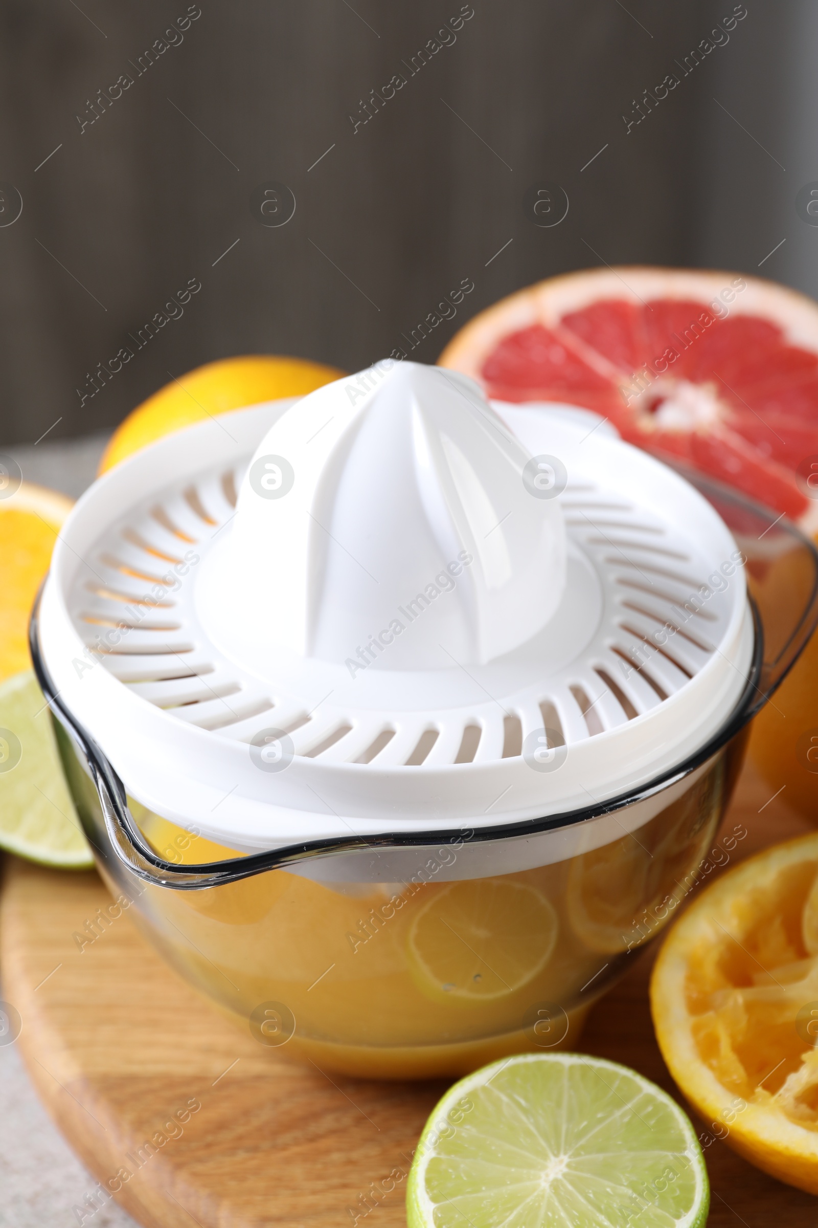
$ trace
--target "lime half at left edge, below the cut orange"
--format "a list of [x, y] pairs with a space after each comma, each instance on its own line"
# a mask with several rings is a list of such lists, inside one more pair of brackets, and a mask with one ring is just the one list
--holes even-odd
[[45, 866], [93, 866], [29, 669], [0, 683], [0, 847]]

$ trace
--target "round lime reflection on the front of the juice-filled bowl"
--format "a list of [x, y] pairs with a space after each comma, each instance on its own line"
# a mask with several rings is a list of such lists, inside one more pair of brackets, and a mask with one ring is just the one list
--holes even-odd
[[558, 928], [553, 906], [527, 883], [451, 883], [415, 916], [410, 969], [418, 987], [438, 1000], [503, 998], [542, 971]]

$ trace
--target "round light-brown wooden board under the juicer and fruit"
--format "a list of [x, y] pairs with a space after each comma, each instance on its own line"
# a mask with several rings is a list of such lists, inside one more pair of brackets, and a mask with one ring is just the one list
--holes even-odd
[[[749, 831], [735, 857], [809, 830], [769, 795], [746, 770], [726, 820]], [[91, 1172], [102, 1181], [131, 1173], [117, 1199], [150, 1228], [402, 1226], [412, 1151], [445, 1084], [369, 1083], [291, 1065], [172, 973], [126, 915], [80, 954], [71, 935], [107, 901], [93, 872], [7, 860], [4, 996], [22, 1017], [17, 1044], [31, 1076]], [[580, 1047], [679, 1098], [654, 1040], [650, 960], [636, 959], [598, 1002]], [[146, 1149], [157, 1132], [167, 1141]], [[724, 1143], [706, 1160], [711, 1226], [816, 1224], [818, 1201]]]

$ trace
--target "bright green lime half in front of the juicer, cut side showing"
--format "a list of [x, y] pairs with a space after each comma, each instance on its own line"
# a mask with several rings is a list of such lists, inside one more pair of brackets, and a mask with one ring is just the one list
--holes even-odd
[[584, 1054], [521, 1054], [456, 1083], [421, 1136], [408, 1228], [693, 1228], [710, 1186], [688, 1117]]

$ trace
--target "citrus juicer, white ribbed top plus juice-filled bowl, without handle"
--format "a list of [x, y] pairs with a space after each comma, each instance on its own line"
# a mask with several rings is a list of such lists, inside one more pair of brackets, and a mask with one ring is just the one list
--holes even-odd
[[168, 958], [262, 1043], [272, 1002], [336, 1068], [456, 1072], [569, 1043], [684, 893], [759, 704], [743, 561], [591, 415], [386, 360], [101, 478], [32, 642]]

